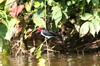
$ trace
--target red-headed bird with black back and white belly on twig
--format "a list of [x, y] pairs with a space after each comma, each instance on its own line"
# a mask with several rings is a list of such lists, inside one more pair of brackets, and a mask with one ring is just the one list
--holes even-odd
[[40, 32], [41, 35], [44, 36], [46, 39], [56, 38], [57, 40], [62, 40], [61, 36], [53, 31], [49, 31], [43, 28], [38, 28], [38, 32]]

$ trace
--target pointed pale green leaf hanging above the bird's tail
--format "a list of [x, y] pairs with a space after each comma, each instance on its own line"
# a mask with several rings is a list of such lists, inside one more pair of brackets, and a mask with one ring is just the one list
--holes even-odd
[[58, 6], [52, 7], [52, 10], [53, 10], [52, 11], [52, 19], [54, 19], [56, 27], [57, 27], [58, 23], [62, 19], [62, 11], [61, 11], [61, 8]]

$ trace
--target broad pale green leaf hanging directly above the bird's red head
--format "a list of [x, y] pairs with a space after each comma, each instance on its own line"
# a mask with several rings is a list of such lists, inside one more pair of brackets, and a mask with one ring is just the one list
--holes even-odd
[[35, 26], [46, 28], [46, 22], [44, 21], [46, 16], [46, 11], [44, 8], [39, 8], [35, 11], [33, 14], [33, 22], [35, 23]]

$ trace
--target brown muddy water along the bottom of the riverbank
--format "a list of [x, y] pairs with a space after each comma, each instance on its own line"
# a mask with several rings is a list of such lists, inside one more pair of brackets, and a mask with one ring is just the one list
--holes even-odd
[[[46, 55], [43, 55], [47, 58]], [[89, 55], [50, 55], [44, 64], [30, 56], [0, 57], [0, 66], [100, 66], [100, 54]]]

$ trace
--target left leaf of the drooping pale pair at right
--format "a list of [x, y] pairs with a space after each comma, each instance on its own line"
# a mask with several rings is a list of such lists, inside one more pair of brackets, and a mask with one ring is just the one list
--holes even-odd
[[89, 32], [89, 24], [90, 22], [85, 22], [84, 24], [82, 24], [80, 28], [80, 37], [83, 37]]

